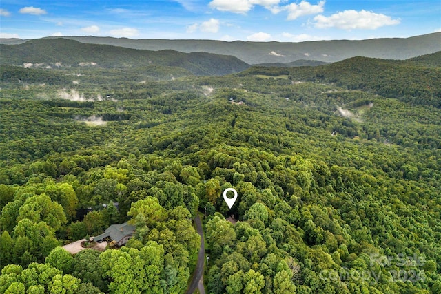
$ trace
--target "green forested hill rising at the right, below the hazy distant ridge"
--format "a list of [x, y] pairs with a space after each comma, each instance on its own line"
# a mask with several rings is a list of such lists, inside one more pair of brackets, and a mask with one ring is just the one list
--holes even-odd
[[437, 84], [441, 70], [433, 60], [440, 60], [439, 52], [409, 61], [353, 57], [322, 67], [253, 67], [248, 72], [270, 76], [288, 74], [289, 78], [296, 81], [335, 83], [348, 90], [372, 91], [414, 105], [440, 108], [441, 92]]

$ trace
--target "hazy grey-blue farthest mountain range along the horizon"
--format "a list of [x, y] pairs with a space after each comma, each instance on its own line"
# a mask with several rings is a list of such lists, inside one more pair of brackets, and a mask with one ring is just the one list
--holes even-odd
[[[208, 52], [231, 55], [250, 65], [259, 63], [291, 63], [315, 60], [332, 63], [353, 56], [380, 59], [409, 59], [441, 50], [441, 33], [411, 38], [369, 39], [361, 41], [306, 41], [300, 43], [245, 42], [212, 40], [116, 39], [96, 36], [67, 36], [81, 43], [113, 45], [139, 50], [176, 50], [178, 52]], [[1, 39], [3, 44], [19, 44], [26, 40]]]

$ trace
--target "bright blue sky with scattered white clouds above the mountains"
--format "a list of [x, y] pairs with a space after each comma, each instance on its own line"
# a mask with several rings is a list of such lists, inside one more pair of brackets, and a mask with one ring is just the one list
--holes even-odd
[[316, 41], [441, 32], [441, 0], [1, 0], [3, 38]]

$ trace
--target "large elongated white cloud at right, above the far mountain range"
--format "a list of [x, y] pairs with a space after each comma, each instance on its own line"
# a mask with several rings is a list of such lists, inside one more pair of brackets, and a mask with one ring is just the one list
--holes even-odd
[[398, 25], [400, 23], [400, 19], [391, 19], [387, 15], [366, 10], [345, 10], [332, 14], [330, 17], [320, 14], [314, 17], [314, 21], [316, 21], [316, 28], [340, 28], [343, 30], [373, 30], [384, 25]]

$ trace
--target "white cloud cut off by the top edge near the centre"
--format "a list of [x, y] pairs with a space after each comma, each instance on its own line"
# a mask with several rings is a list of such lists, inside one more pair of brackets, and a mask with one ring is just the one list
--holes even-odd
[[278, 3], [280, 3], [280, 0], [213, 0], [209, 3], [209, 7], [219, 11], [245, 14], [258, 5], [271, 10], [273, 13], [277, 13], [280, 11], [278, 10]]

